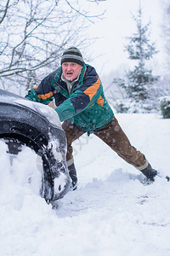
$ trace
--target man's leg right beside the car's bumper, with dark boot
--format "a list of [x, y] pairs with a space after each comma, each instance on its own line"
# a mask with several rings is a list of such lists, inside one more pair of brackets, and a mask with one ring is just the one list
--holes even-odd
[[83, 134], [83, 131], [81, 131], [77, 125], [71, 124], [67, 121], [65, 121], [62, 124], [62, 128], [65, 131], [65, 136], [67, 140], [67, 154], [66, 154], [66, 161], [67, 166], [69, 169], [69, 174], [72, 180], [72, 189], [77, 189], [77, 171], [74, 165], [74, 159], [73, 159], [73, 149], [71, 144], [77, 140], [77, 138], [81, 137]]

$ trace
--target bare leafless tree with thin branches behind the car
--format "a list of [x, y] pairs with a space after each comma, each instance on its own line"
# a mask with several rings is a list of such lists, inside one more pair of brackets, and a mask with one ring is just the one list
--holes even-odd
[[27, 90], [37, 85], [41, 76], [59, 66], [66, 47], [90, 44], [82, 34], [85, 21], [101, 16], [88, 15], [78, 1], [1, 1], [0, 88]]

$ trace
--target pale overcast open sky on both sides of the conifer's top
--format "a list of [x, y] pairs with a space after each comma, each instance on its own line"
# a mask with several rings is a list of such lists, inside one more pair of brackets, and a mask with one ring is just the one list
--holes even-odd
[[[156, 49], [160, 52], [155, 55], [157, 59], [163, 59], [161, 42], [161, 1], [160, 0], [141, 0], [143, 9], [144, 24], [151, 21], [150, 39], [156, 43]], [[104, 10], [105, 19], [98, 20], [88, 28], [89, 35], [96, 40], [95, 44], [89, 47], [95, 57], [90, 64], [96, 67], [99, 73], [110, 73], [111, 70], [121, 68], [127, 60], [127, 53], [124, 51], [126, 38], [132, 36], [136, 29], [136, 23], [132, 19], [132, 14], [136, 15], [139, 9], [139, 0], [106, 0], [99, 3], [96, 11]], [[97, 57], [98, 56], [98, 57]], [[154, 64], [159, 72], [159, 67]], [[126, 65], [125, 65], [126, 66]]]

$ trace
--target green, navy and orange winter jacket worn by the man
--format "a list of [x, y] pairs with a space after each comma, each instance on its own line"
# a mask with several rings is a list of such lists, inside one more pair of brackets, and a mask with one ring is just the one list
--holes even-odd
[[61, 74], [62, 67], [59, 67], [42, 79], [37, 87], [29, 90], [26, 98], [46, 105], [54, 100], [60, 121], [74, 123], [84, 132], [98, 131], [107, 125], [114, 113], [105, 99], [103, 86], [94, 67], [84, 63], [79, 79], [71, 88], [71, 94]]

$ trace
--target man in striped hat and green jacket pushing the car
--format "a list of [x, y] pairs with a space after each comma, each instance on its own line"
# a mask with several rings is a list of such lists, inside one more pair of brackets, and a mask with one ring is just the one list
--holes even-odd
[[134, 148], [118, 124], [105, 99], [103, 86], [94, 67], [82, 59], [79, 49], [66, 49], [61, 57], [61, 66], [29, 90], [27, 99], [43, 104], [53, 100], [67, 138], [66, 160], [72, 180], [72, 189], [77, 189], [77, 172], [72, 156], [73, 143], [83, 133], [94, 133], [110, 146], [122, 159], [135, 166], [145, 177], [154, 181], [153, 170], [144, 154]]

